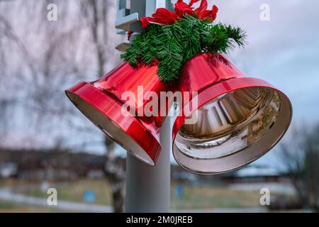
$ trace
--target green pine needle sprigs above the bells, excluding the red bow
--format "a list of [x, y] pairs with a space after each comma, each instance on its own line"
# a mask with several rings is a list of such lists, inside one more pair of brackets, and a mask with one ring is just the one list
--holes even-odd
[[[135, 36], [130, 48], [121, 57], [130, 65], [159, 61], [158, 76], [162, 82], [174, 82], [181, 67], [201, 52], [227, 53], [237, 44], [244, 47], [246, 34], [239, 27], [211, 24], [185, 16], [169, 26], [150, 24]], [[234, 44], [235, 43], [235, 44]]]

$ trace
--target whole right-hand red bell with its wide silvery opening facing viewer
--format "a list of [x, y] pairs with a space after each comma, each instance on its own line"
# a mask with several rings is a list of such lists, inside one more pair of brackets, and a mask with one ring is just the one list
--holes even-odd
[[191, 58], [177, 89], [198, 92], [173, 127], [175, 160], [192, 172], [217, 174], [247, 165], [274, 147], [291, 123], [291, 102], [283, 92], [245, 77], [222, 55]]

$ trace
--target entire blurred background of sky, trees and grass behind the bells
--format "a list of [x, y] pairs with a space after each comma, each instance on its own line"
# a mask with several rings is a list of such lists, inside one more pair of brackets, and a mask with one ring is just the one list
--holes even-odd
[[[57, 21], [47, 20], [49, 4]], [[172, 211], [319, 211], [319, 1], [212, 4], [217, 21], [247, 31], [249, 45], [230, 60], [285, 92], [293, 123], [271, 152], [235, 172], [194, 175], [171, 158]], [[0, 0], [0, 212], [123, 211], [125, 150], [64, 94], [121, 62], [115, 47], [127, 36], [115, 19], [115, 0]], [[47, 205], [49, 188], [57, 206]]]

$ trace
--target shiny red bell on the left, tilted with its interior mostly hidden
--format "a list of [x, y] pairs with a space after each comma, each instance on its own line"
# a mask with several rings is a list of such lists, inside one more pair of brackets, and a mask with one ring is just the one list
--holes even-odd
[[[157, 65], [133, 68], [123, 62], [106, 76], [80, 82], [66, 94], [104, 133], [142, 162], [155, 165], [161, 150], [159, 129], [167, 113], [147, 117], [143, 110], [150, 102], [150, 93], [159, 96], [169, 89], [169, 84], [160, 82]], [[167, 111], [167, 106], [159, 110]]]

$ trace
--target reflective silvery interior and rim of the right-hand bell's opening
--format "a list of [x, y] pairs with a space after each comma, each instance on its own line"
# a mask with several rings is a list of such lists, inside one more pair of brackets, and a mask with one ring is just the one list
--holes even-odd
[[265, 87], [237, 89], [201, 106], [181, 126], [174, 157], [201, 174], [236, 170], [261, 157], [284, 135], [291, 104]]

